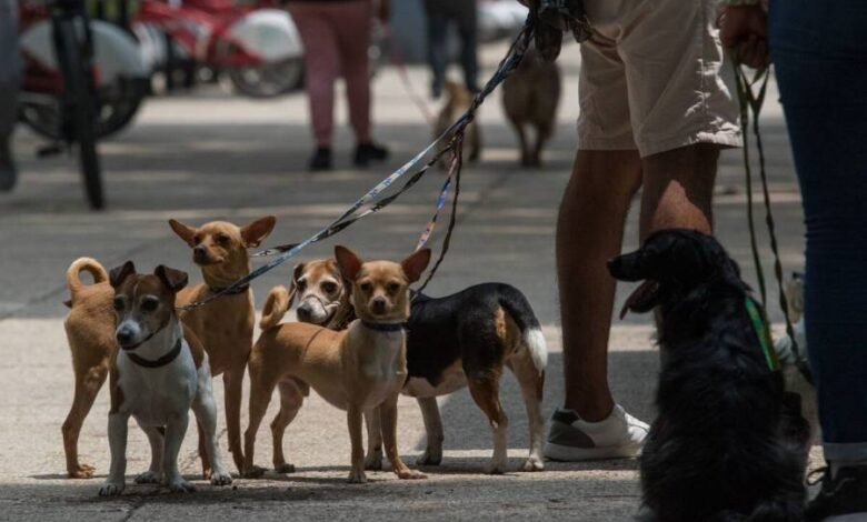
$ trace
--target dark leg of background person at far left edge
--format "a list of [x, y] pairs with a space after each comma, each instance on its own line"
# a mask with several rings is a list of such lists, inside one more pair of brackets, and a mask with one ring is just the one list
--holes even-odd
[[0, 191], [12, 190], [18, 178], [11, 141], [20, 81], [18, 2], [0, 0]]

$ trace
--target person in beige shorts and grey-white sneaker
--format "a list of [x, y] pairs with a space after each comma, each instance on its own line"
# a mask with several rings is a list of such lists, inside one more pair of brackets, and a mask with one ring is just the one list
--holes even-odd
[[[522, 0], [530, 4], [536, 1]], [[635, 456], [648, 425], [615, 403], [607, 355], [630, 201], [640, 237], [712, 232], [720, 149], [739, 147], [738, 107], [722, 81], [717, 0], [585, 0], [578, 151], [557, 223], [566, 396], [545, 448], [554, 460]]]

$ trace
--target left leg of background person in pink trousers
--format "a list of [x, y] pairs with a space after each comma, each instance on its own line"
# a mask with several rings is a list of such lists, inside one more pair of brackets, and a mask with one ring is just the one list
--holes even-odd
[[331, 23], [329, 4], [292, 2], [292, 14], [305, 46], [305, 71], [310, 120], [316, 139], [316, 152], [310, 170], [331, 168], [331, 134], [333, 131], [335, 81], [340, 72], [337, 27]]

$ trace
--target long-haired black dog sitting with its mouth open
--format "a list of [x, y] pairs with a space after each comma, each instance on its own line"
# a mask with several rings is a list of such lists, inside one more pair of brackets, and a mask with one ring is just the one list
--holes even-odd
[[665, 230], [608, 269], [645, 281], [624, 314], [659, 307], [661, 320], [659, 415], [640, 460], [647, 520], [801, 520], [809, 425], [735, 261], [709, 235]]

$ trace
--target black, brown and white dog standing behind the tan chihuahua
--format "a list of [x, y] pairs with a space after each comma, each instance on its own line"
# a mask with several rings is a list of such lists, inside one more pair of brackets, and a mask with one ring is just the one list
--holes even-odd
[[[291, 292], [282, 287], [271, 290], [260, 324], [262, 329], [277, 324], [297, 297], [300, 321], [340, 330], [355, 319], [350, 294], [333, 260], [302, 263], [295, 269]], [[485, 471], [506, 471], [508, 420], [499, 401], [499, 380], [507, 367], [518, 379], [530, 424], [530, 454], [522, 470], [542, 470], [547, 348], [524, 294], [502, 283], [477, 284], [438, 299], [419, 294], [412, 300], [407, 327], [409, 379], [402, 393], [418, 400], [427, 431], [427, 449], [418, 463], [437, 465], [442, 460], [442, 422], [436, 398], [469, 385], [494, 432], [494, 455]], [[368, 420], [368, 428], [378, 424], [375, 416]], [[381, 468], [380, 436], [373, 431], [368, 433], [367, 469]], [[281, 440], [282, 433], [275, 433], [275, 451], [280, 451]]]

